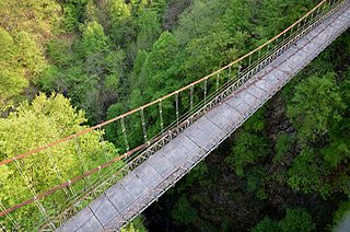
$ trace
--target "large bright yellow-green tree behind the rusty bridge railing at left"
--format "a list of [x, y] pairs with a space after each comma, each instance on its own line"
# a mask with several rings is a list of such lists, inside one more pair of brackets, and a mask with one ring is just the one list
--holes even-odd
[[[46, 97], [40, 94], [32, 104], [23, 103], [8, 118], [0, 119], [0, 160], [16, 156], [81, 131], [86, 128], [81, 126], [85, 121], [84, 113], [72, 107], [69, 100], [62, 95], [52, 94]], [[102, 141], [102, 136], [103, 131], [93, 131], [22, 161], [1, 166], [1, 204], [7, 208], [20, 204], [117, 156], [114, 146]], [[72, 188], [80, 193], [96, 177], [98, 176], [91, 176], [86, 184], [78, 182]], [[55, 192], [40, 202], [48, 211], [59, 211], [66, 205], [69, 195], [69, 192]], [[40, 212], [35, 204], [32, 204], [16, 210], [12, 216], [24, 228], [31, 228], [39, 221]], [[10, 221], [5, 223], [11, 228]]]

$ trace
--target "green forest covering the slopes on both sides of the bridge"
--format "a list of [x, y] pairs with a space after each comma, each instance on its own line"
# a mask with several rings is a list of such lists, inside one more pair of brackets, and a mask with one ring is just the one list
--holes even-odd
[[[0, 161], [198, 80], [318, 2], [1, 0]], [[331, 231], [350, 209], [349, 57], [348, 31], [124, 231]], [[0, 166], [0, 209], [120, 155], [119, 137], [110, 126]], [[36, 207], [13, 213], [24, 231]]]

